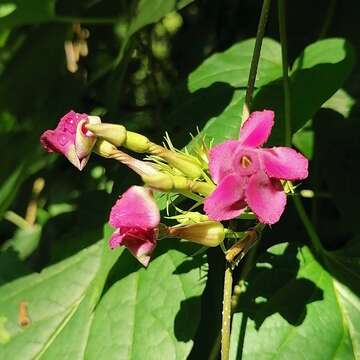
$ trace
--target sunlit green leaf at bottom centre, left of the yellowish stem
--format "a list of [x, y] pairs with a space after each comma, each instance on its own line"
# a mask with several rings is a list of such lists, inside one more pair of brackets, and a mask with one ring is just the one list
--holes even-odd
[[186, 359], [199, 322], [205, 279], [199, 269], [201, 257], [187, 258], [194, 252], [192, 244], [176, 246], [179, 251], [168, 241], [174, 240], [160, 242], [157, 253], [162, 254], [147, 269], [138, 269], [129, 253], [121, 256], [121, 279], [97, 307], [86, 358]]

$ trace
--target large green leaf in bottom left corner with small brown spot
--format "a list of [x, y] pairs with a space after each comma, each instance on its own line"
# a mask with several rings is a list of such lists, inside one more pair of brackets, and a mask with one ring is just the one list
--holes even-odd
[[[82, 359], [86, 329], [119, 253], [101, 241], [40, 274], [2, 286], [0, 317], [6, 320], [8, 341], [0, 344], [1, 355], [6, 359]], [[20, 304], [27, 305], [30, 324], [26, 327], [19, 324]]]

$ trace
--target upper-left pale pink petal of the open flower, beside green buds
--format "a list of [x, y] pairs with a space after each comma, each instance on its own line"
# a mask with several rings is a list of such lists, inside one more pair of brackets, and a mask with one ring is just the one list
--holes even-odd
[[228, 140], [211, 148], [209, 170], [215, 183], [234, 171], [234, 155], [238, 146], [237, 140]]

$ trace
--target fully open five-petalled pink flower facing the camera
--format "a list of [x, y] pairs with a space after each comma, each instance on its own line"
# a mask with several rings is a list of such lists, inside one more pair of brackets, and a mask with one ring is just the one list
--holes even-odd
[[280, 179], [308, 176], [308, 160], [289, 147], [263, 149], [274, 125], [270, 110], [253, 112], [241, 128], [239, 140], [225, 141], [210, 150], [210, 174], [217, 183], [205, 200], [213, 220], [239, 216], [248, 206], [264, 224], [274, 224], [286, 205]]

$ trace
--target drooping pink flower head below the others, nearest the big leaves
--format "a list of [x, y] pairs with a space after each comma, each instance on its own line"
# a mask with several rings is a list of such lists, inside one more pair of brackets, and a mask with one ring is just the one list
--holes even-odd
[[111, 209], [110, 224], [116, 228], [109, 240], [112, 249], [126, 246], [147, 266], [156, 247], [160, 212], [150, 189], [130, 187]]

